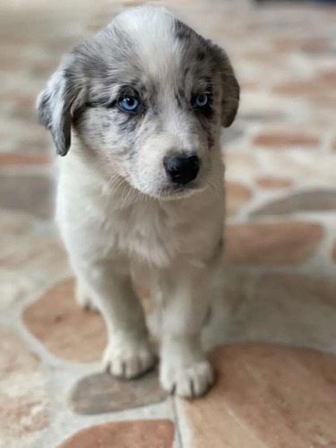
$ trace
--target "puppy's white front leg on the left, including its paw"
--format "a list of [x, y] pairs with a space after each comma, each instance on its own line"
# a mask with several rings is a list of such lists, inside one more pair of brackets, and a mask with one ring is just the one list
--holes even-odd
[[73, 261], [78, 281], [99, 306], [108, 330], [103, 363], [112, 375], [134, 378], [155, 362], [148, 341], [142, 306], [130, 275], [118, 261]]

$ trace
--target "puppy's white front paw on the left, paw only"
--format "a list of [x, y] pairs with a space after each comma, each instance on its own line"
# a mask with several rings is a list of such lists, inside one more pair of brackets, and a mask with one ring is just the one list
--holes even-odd
[[156, 356], [147, 340], [125, 339], [108, 344], [103, 365], [111, 375], [134, 378], [155, 365]]

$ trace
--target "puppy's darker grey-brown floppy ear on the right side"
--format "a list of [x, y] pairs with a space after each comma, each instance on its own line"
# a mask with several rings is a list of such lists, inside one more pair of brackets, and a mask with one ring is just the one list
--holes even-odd
[[221, 125], [229, 127], [235, 121], [239, 107], [240, 87], [237, 82], [228, 55], [217, 45], [210, 42], [216, 66], [221, 78]]

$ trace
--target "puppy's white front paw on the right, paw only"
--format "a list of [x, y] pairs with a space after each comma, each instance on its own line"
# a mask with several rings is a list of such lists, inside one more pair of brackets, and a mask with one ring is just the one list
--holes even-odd
[[160, 368], [159, 382], [165, 391], [179, 397], [200, 397], [214, 383], [213, 368], [206, 359], [185, 367], [164, 363]]

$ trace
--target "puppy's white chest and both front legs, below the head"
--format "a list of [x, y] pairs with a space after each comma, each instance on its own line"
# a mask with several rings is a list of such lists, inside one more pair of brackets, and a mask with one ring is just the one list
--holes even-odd
[[92, 173], [85, 151], [73, 142], [60, 160], [56, 216], [73, 270], [86, 286], [83, 305], [92, 306], [92, 297], [107, 323], [104, 365], [114, 375], [133, 377], [154, 362], [130, 275], [143, 281], [146, 274], [162, 316], [162, 387], [200, 395], [213, 380], [200, 332], [220, 262], [212, 254], [223, 229], [221, 178], [215, 191], [160, 201], [137, 194], [120, 178], [111, 185], [99, 170]]

